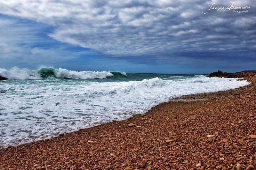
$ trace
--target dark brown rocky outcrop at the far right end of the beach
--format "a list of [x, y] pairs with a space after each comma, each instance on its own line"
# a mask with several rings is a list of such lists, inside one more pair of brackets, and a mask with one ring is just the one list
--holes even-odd
[[240, 73], [227, 73], [227, 72], [222, 72], [218, 70], [217, 72], [211, 73], [207, 77], [224, 77], [224, 78], [243, 78], [243, 77], [256, 77], [256, 73], [248, 71], [247, 73], [245, 72], [240, 72]]

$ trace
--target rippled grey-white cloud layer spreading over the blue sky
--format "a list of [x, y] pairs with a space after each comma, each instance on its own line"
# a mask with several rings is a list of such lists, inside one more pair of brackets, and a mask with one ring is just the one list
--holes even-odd
[[[255, 61], [253, 1], [214, 1], [249, 6], [247, 13], [211, 10], [211, 1], [1, 1], [1, 13], [51, 26], [48, 36], [106, 57], [132, 62]], [[2, 24], [2, 23], [1, 23]], [[2, 47], [2, 44], [1, 44]], [[246, 54], [246, 55], [245, 55]], [[136, 58], [136, 59], [135, 59]], [[141, 60], [140, 60], [141, 58]], [[207, 63], [207, 62], [206, 62]], [[213, 61], [214, 63], [214, 61]], [[234, 62], [235, 64], [235, 62]]]

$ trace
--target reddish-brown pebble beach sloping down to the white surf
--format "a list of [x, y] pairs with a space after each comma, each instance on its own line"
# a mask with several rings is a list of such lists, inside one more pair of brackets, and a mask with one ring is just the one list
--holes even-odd
[[181, 96], [151, 108], [145, 116], [1, 149], [1, 168], [232, 169], [237, 163], [242, 169], [255, 167], [256, 141], [249, 134], [255, 135], [256, 128], [256, 78], [244, 79], [251, 84]]

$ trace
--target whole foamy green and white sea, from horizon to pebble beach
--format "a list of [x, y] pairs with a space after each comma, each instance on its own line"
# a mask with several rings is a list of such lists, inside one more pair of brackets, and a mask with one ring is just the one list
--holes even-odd
[[[248, 85], [204, 75], [0, 68], [0, 148], [127, 119], [183, 95]], [[170, 113], [171, 114], [171, 113]]]

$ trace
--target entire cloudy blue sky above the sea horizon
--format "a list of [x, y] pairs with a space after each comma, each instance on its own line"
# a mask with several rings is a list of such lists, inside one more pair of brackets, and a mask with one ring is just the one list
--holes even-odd
[[[211, 4], [250, 9], [208, 11]], [[0, 67], [14, 66], [174, 74], [256, 70], [256, 3], [0, 1]]]

